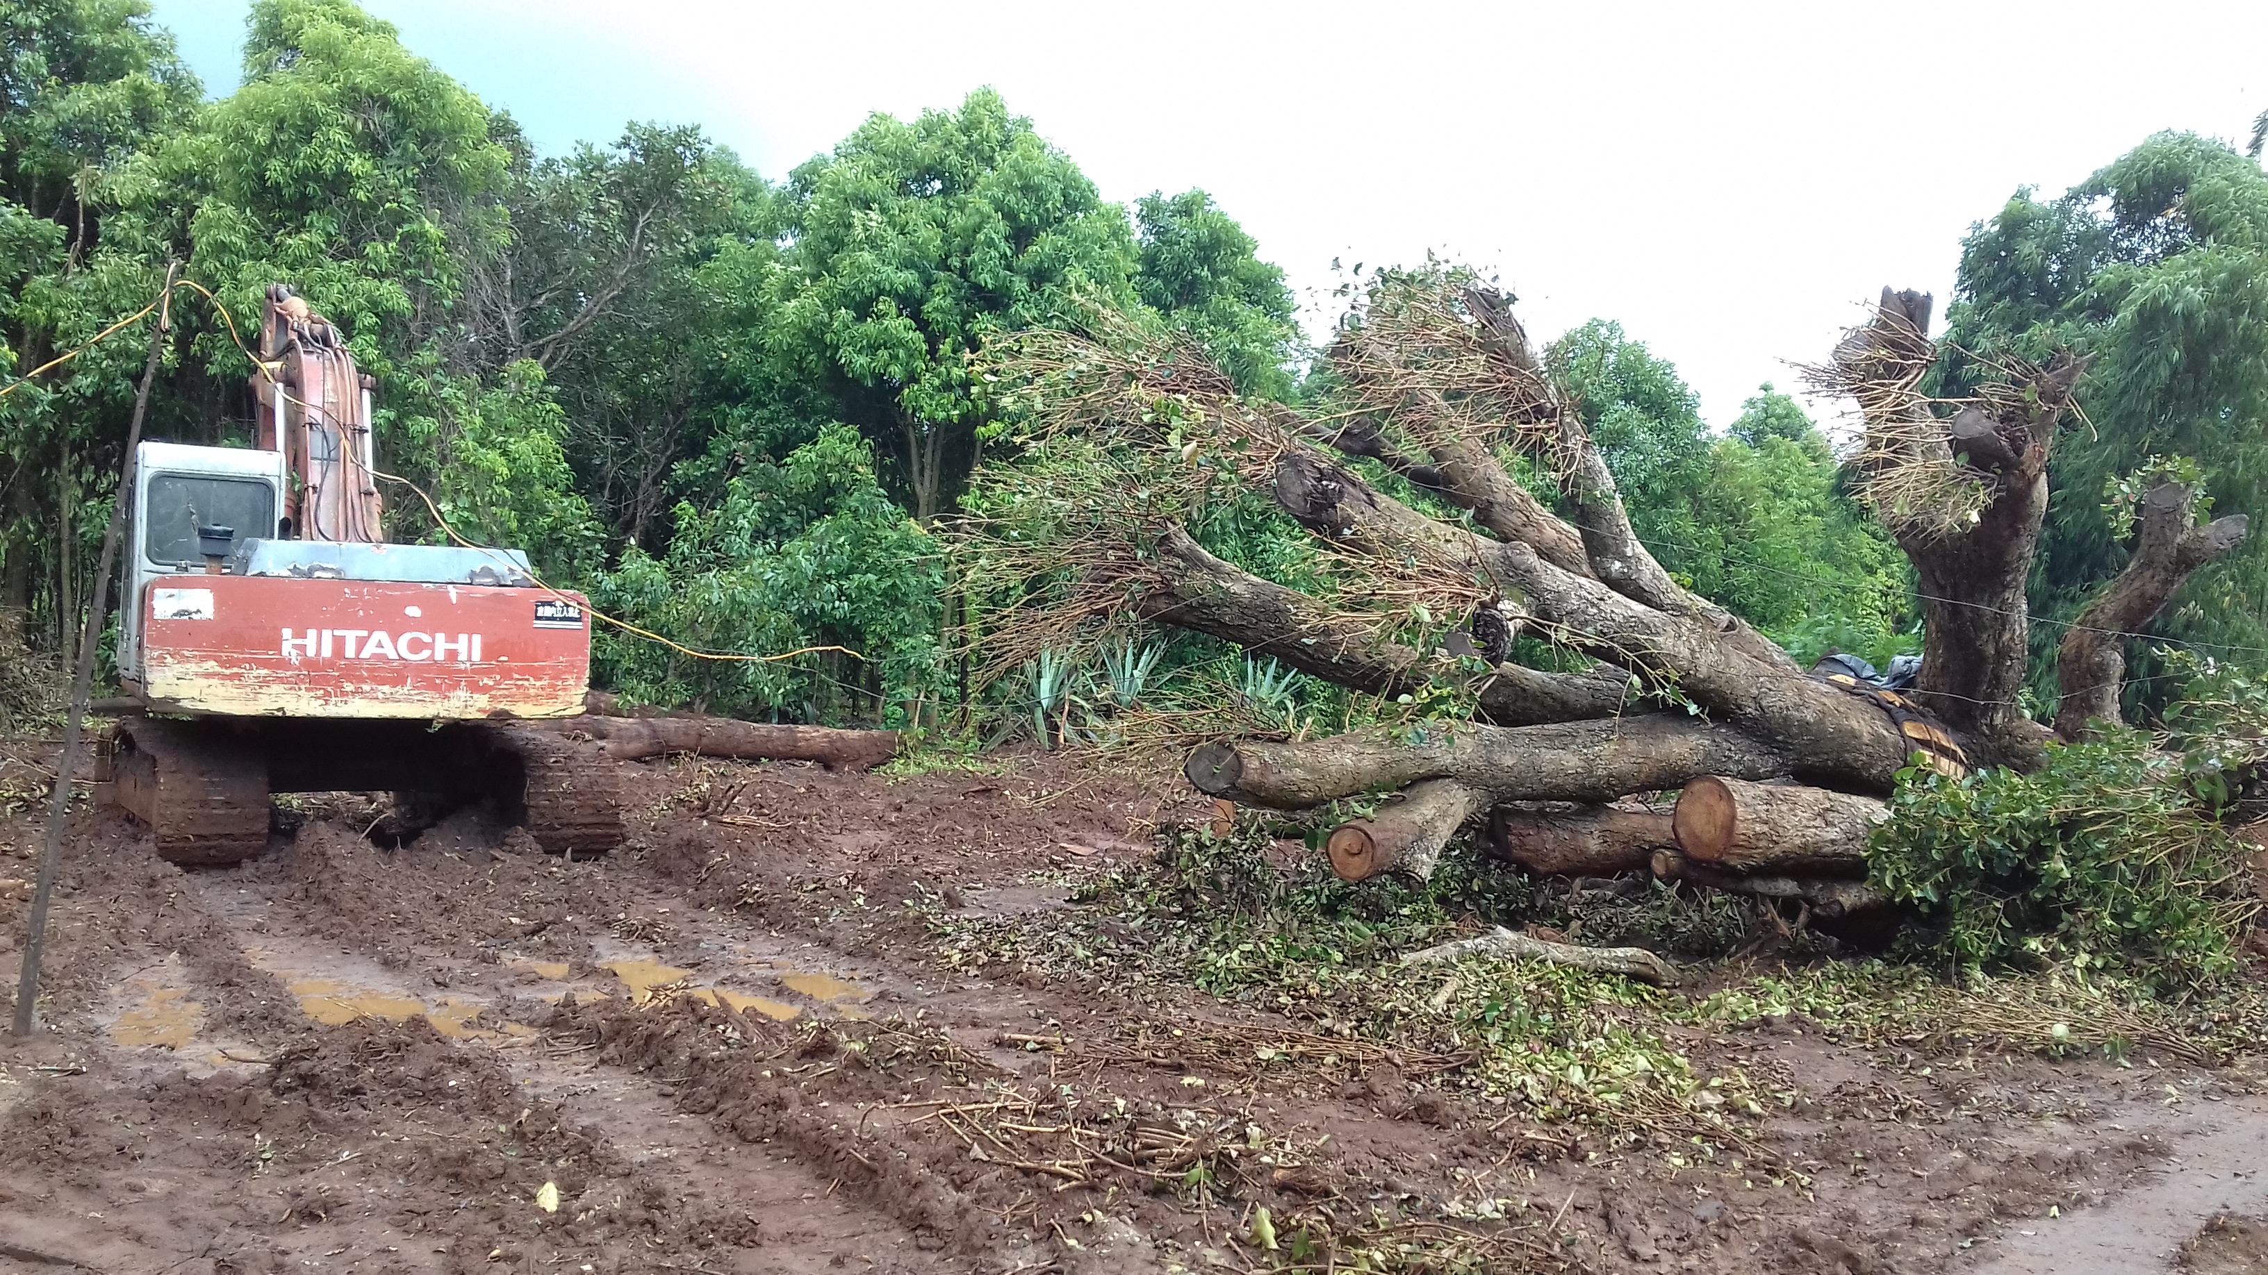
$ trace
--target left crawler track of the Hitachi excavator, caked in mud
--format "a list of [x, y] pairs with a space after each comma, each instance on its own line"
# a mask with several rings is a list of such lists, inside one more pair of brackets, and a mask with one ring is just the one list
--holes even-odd
[[268, 760], [227, 724], [127, 717], [107, 783], [161, 860], [234, 864], [268, 851]]

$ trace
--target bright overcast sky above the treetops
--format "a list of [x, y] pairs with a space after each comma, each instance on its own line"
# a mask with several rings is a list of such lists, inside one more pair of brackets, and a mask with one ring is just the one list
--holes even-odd
[[[2155, 129], [2241, 141], [2268, 2], [773, 5], [365, 0], [547, 152], [699, 123], [767, 177], [871, 111], [993, 84], [1109, 200], [1200, 186], [1284, 265], [1436, 250], [1531, 331], [1619, 320], [1726, 424], [1882, 284], [1944, 302], [1969, 225]], [[156, 0], [225, 93], [245, 5]]]

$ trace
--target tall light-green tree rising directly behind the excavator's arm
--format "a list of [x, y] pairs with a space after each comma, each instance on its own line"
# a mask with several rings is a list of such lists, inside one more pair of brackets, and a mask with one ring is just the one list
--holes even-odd
[[[390, 23], [352, 0], [259, 0], [245, 84], [154, 157], [138, 195], [240, 324], [274, 281], [338, 322], [381, 381], [388, 467], [431, 481], [447, 447], [440, 402], [476, 392], [442, 383], [442, 338], [458, 327], [465, 259], [510, 229], [508, 161], [488, 107]], [[247, 374], [236, 343], [211, 318], [191, 333], [215, 406], [234, 404]], [[422, 508], [399, 495], [397, 533], [413, 533]]]

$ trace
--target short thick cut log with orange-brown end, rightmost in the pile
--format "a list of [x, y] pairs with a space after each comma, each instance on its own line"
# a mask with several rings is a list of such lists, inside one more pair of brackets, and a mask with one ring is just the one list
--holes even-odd
[[1887, 808], [1823, 787], [1701, 776], [1678, 794], [1685, 858], [1735, 871], [1867, 873], [1867, 835]]

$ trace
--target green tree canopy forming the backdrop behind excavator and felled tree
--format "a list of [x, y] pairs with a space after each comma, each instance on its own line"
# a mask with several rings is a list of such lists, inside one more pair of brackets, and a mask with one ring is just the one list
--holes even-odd
[[[7, 368], [147, 304], [168, 259], [240, 324], [286, 281], [379, 379], [386, 467], [456, 533], [522, 544], [547, 579], [655, 631], [857, 651], [703, 667], [603, 640], [601, 678], [640, 696], [814, 719], [971, 706], [975, 665], [950, 658], [946, 631], [980, 640], [984, 617], [957, 610], [934, 531], [980, 465], [1027, 445], [980, 372], [1016, 333], [1132, 324], [1202, 349], [1252, 404], [1354, 402], [1229, 209], [1204, 191], [1107, 202], [991, 88], [909, 120], [878, 113], [767, 179], [694, 125], [633, 120], [538, 154], [352, 0], [249, 5], [245, 79], [209, 102], [141, 0], [9, 5], [0, 54]], [[2200, 465], [2211, 508], [2268, 495], [2263, 243], [2259, 166], [2161, 134], [2062, 197], [2019, 193], [1964, 245], [1946, 395], [2009, 358], [2093, 358], [2087, 429], [2055, 451], [2034, 590], [2050, 619], [2127, 563], [2130, 497], [2173, 458]], [[202, 302], [177, 320], [152, 433], [243, 442], [236, 338]], [[86, 603], [129, 345], [0, 404], [0, 610], [41, 642]], [[1765, 386], [1712, 431], [1669, 358], [1608, 318], [1540, 358], [1676, 588], [1803, 660], [1919, 644], [1912, 574], [1796, 399]], [[1390, 451], [1363, 465], [1438, 510], [1422, 465]], [[1533, 458], [1506, 465], [1551, 495]], [[386, 495], [392, 535], [445, 535], [415, 492]], [[1279, 583], [1334, 572], [1268, 501], [1225, 501], [1191, 533]], [[2254, 538], [2155, 631], [2252, 658], [2268, 651], [2263, 599]], [[2041, 712], [2055, 638], [2034, 631]], [[1220, 658], [1177, 638], [1168, 667]], [[1268, 667], [1232, 674], [1284, 690]]]

